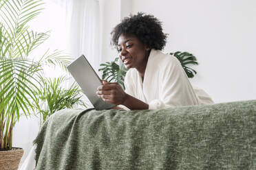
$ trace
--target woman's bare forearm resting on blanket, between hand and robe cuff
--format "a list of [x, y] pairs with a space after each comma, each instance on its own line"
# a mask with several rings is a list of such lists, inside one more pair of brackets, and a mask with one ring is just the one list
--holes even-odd
[[126, 94], [125, 101], [122, 105], [126, 106], [130, 110], [147, 110], [149, 109], [149, 105], [145, 102], [132, 97], [131, 95]]

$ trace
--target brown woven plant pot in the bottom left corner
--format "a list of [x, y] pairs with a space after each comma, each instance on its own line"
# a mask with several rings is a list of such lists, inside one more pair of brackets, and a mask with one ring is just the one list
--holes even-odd
[[23, 152], [23, 149], [19, 147], [12, 147], [9, 151], [0, 151], [0, 170], [17, 170]]

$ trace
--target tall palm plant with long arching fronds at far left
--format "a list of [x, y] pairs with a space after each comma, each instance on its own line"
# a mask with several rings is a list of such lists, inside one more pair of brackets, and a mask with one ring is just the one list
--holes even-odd
[[[12, 129], [21, 114], [34, 111], [43, 64], [65, 66], [67, 56], [54, 51], [39, 61], [30, 53], [49, 37], [27, 23], [43, 10], [42, 0], [0, 0], [0, 150], [12, 149]], [[32, 110], [31, 110], [32, 109]]]

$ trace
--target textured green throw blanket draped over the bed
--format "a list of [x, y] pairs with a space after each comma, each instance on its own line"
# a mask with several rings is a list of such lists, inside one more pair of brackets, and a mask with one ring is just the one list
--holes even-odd
[[36, 169], [256, 169], [256, 101], [162, 110], [61, 110]]

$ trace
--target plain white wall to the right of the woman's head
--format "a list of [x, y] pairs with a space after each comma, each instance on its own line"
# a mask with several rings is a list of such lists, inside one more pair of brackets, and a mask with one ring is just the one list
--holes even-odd
[[191, 80], [218, 102], [256, 99], [256, 1], [133, 0], [169, 34], [165, 52], [189, 51], [200, 62]]

